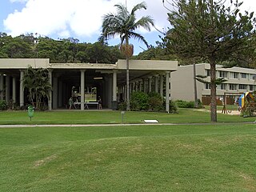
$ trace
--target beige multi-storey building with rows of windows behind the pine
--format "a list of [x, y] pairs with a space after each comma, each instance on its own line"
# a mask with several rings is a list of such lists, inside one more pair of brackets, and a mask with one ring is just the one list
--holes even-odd
[[[178, 69], [171, 73], [171, 98], [173, 100], [194, 101], [194, 73], [193, 65], [178, 66]], [[207, 76], [204, 80], [210, 82], [210, 64], [196, 64], [196, 74]], [[246, 91], [254, 91], [256, 70], [242, 67], [223, 68], [216, 66], [217, 78], [225, 78], [227, 81], [217, 86], [217, 97], [223, 101], [224, 94], [236, 101]], [[198, 98], [208, 104], [210, 101], [210, 84], [196, 82]], [[207, 102], [208, 101], [208, 102]]]

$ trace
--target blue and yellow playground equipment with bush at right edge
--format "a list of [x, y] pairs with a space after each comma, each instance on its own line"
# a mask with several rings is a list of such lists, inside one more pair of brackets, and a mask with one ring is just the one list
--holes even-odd
[[254, 116], [254, 112], [256, 111], [254, 95], [250, 92], [242, 94], [238, 99], [238, 106], [238, 110], [241, 111], [244, 117]]

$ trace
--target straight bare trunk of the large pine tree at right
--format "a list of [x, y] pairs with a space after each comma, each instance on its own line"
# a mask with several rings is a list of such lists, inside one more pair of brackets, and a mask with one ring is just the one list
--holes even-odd
[[210, 121], [217, 122], [216, 104], [216, 65], [214, 59], [210, 59]]

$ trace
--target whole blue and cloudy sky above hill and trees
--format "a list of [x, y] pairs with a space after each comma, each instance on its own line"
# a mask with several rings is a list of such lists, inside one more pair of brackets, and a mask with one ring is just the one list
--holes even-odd
[[[20, 34], [40, 34], [54, 39], [78, 38], [80, 42], [96, 42], [101, 34], [102, 16], [115, 12], [115, 4], [122, 3], [128, 10], [143, 0], [0, 0], [0, 31], [13, 37]], [[156, 29], [166, 31], [170, 27], [167, 21], [168, 10], [162, 0], [144, 0], [147, 10], [138, 10], [137, 18], [150, 15]], [[171, 0], [165, 0], [165, 6], [171, 9]], [[250, 12], [256, 10], [255, 0], [244, 0], [242, 8]], [[137, 32], [146, 38], [150, 45], [160, 41], [161, 33], [152, 28]], [[120, 39], [108, 41], [117, 45]], [[133, 40], [134, 54], [146, 49], [138, 40]]]

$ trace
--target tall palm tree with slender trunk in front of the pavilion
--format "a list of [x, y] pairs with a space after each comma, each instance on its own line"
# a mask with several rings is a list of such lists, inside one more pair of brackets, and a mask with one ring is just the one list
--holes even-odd
[[117, 7], [117, 14], [106, 14], [102, 22], [102, 34], [100, 41], [114, 38], [119, 35], [121, 38], [120, 49], [126, 55], [126, 110], [130, 110], [130, 96], [129, 96], [129, 58], [132, 56], [134, 46], [129, 45], [129, 39], [138, 39], [148, 46], [145, 38], [135, 32], [139, 27], [150, 30], [150, 25], [154, 26], [153, 19], [150, 16], [142, 17], [136, 20], [135, 12], [137, 10], [146, 10], [146, 3], [141, 2], [129, 12], [126, 6], [122, 4], [115, 5]]

